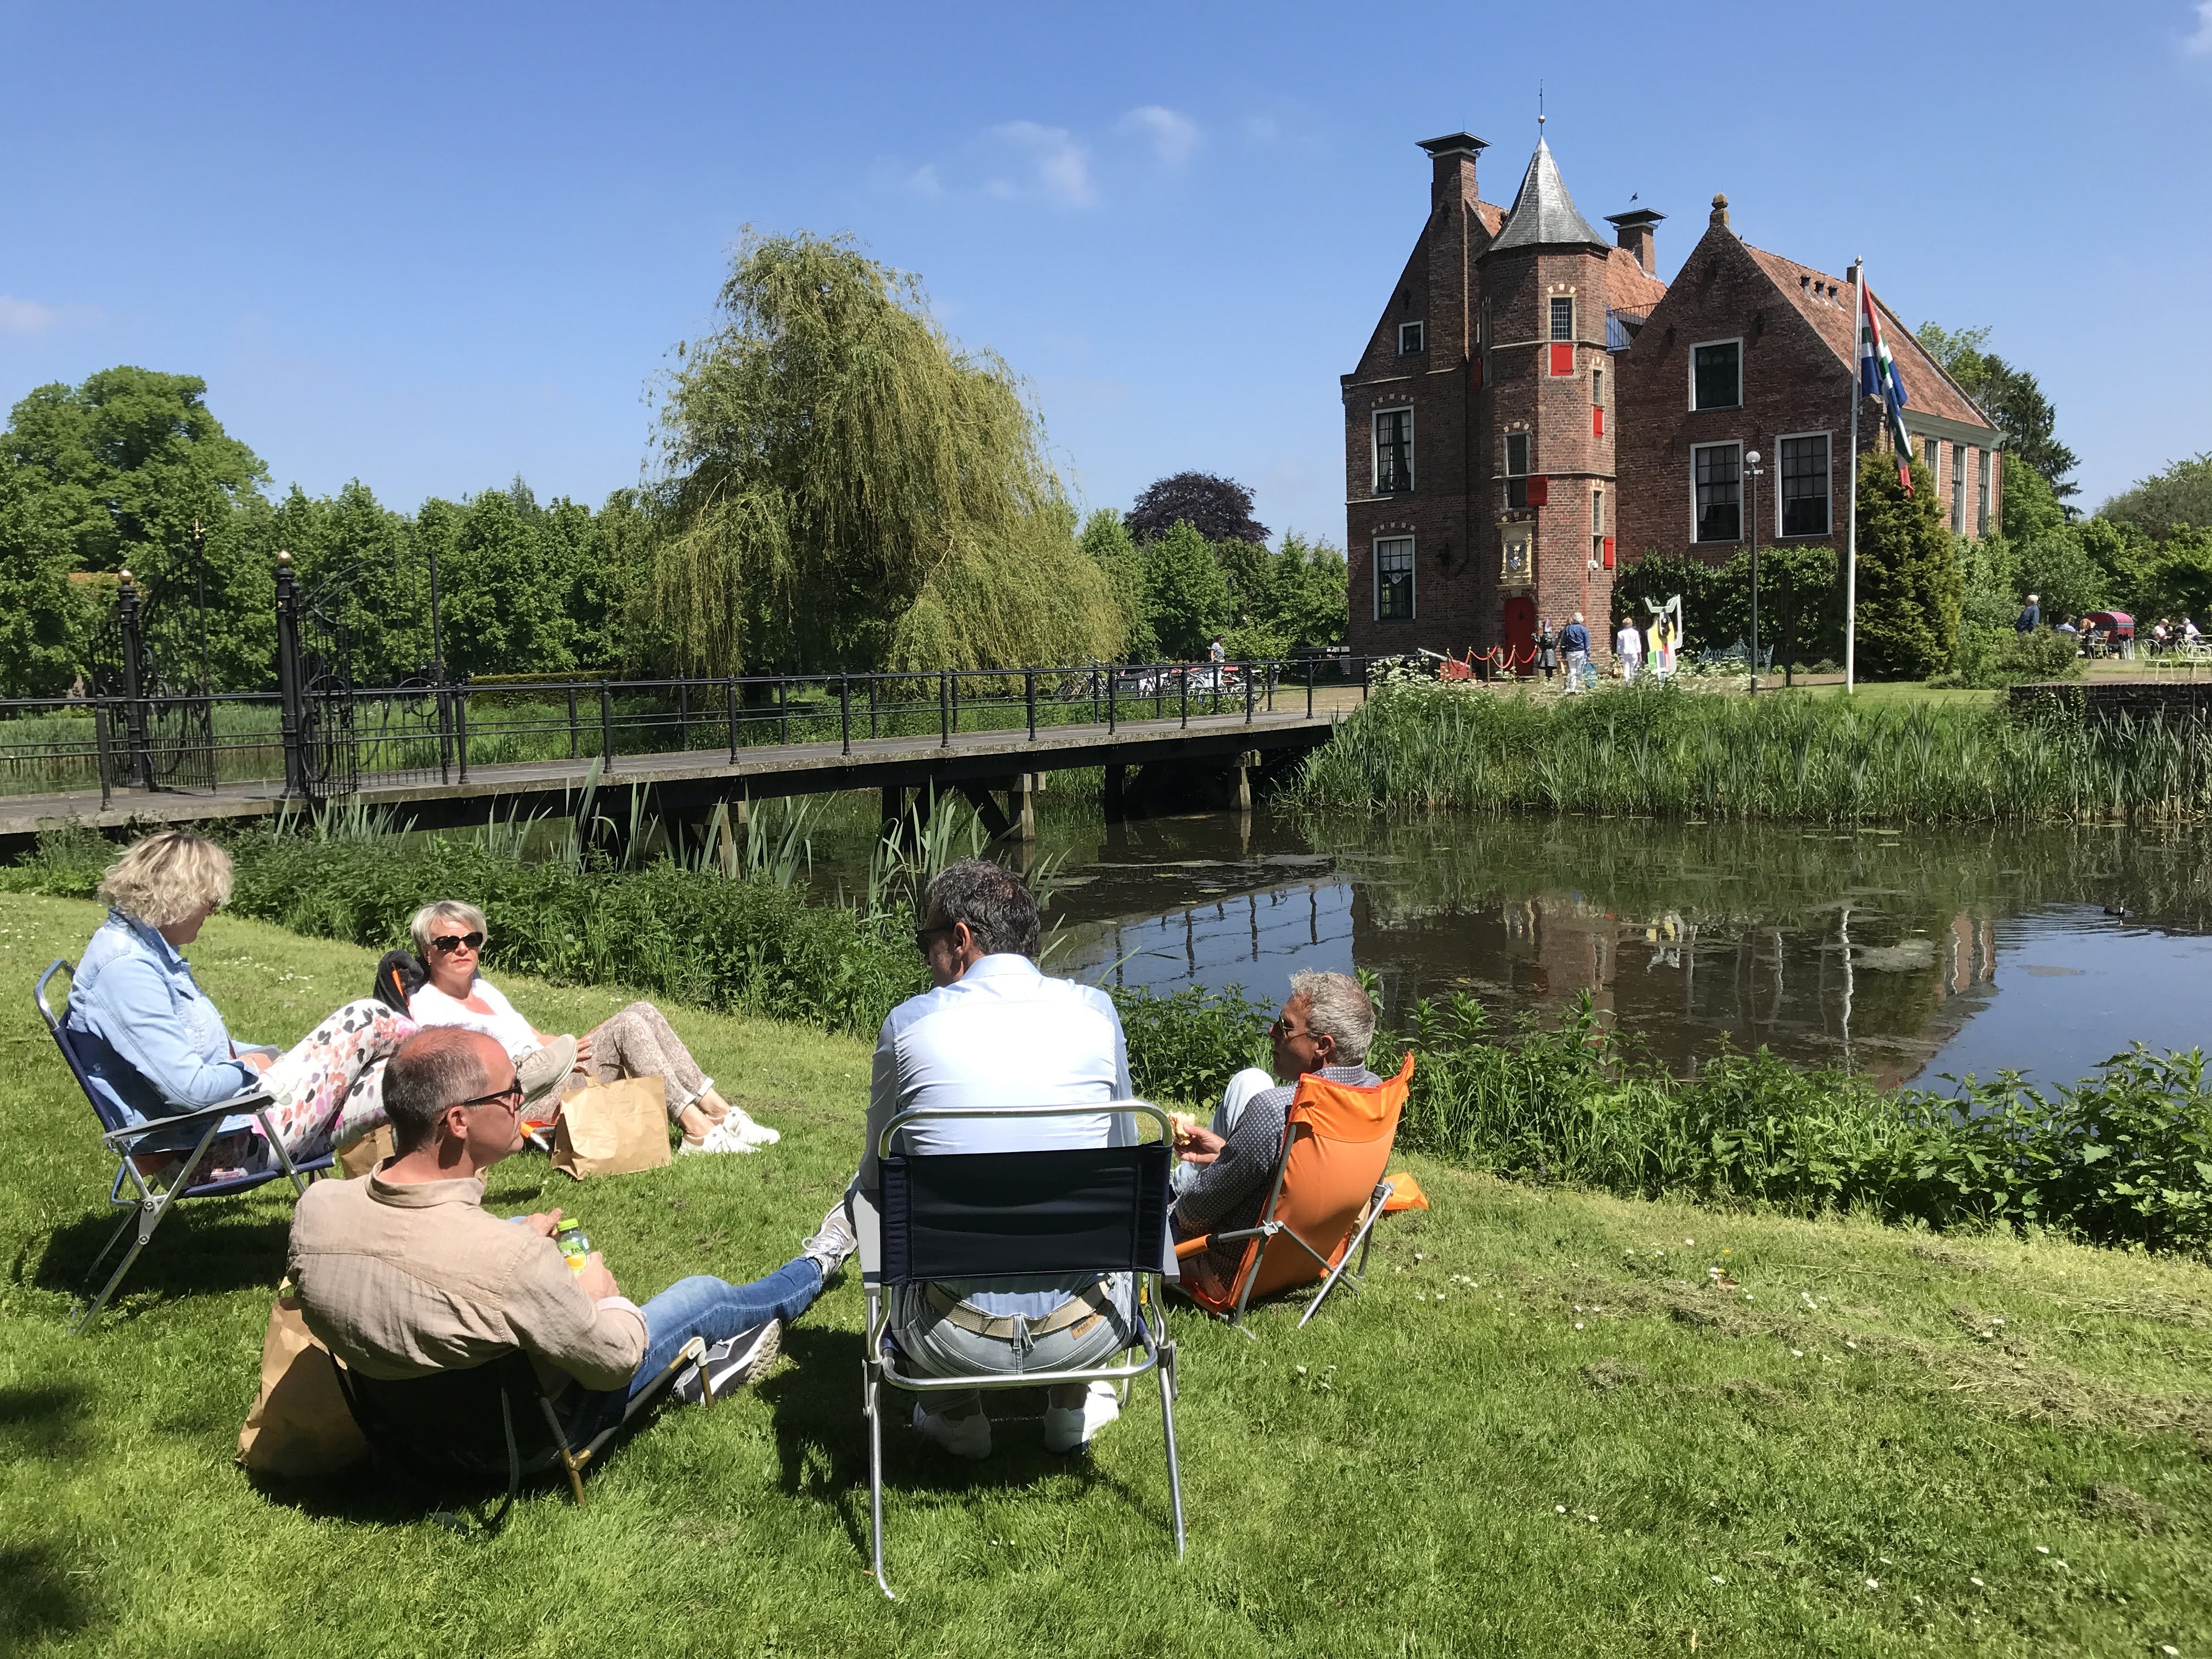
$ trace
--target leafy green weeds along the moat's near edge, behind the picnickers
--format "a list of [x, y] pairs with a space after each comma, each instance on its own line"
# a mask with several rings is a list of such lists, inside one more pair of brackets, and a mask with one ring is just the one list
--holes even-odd
[[[661, 860], [648, 869], [520, 863], [487, 838], [234, 843], [241, 916], [369, 947], [405, 942], [431, 898], [491, 922], [489, 971], [633, 984], [657, 998], [872, 1037], [922, 989], [902, 914], [810, 905], [799, 887]], [[108, 847], [53, 841], [0, 883], [88, 896]], [[332, 1002], [367, 989], [332, 984]], [[1130, 1075], [1206, 1104], [1265, 1055], [1267, 1004], [1237, 991], [1115, 991]], [[586, 1022], [591, 1024], [591, 1022]], [[1679, 1194], [1796, 1214], [1860, 1210], [1936, 1228], [2037, 1225], [2088, 1243], [2212, 1252], [2212, 1091], [2203, 1057], [2130, 1051], [2051, 1095], [2013, 1077], [1962, 1095], [1721, 1053], [1674, 1077], [1599, 1026], [1495, 1029], [1473, 998], [1420, 1002], [1380, 1055], [1413, 1048], [1405, 1141], [1473, 1168], [1630, 1197]]]

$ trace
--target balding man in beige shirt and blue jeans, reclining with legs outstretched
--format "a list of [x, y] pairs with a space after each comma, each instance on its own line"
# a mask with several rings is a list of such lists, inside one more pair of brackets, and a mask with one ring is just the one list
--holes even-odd
[[[560, 1210], [484, 1210], [484, 1170], [522, 1146], [522, 1082], [498, 1040], [416, 1033], [385, 1066], [385, 1106], [396, 1155], [358, 1181], [314, 1183], [292, 1212], [307, 1329], [363, 1376], [465, 1371], [520, 1347], [571, 1427], [595, 1433], [692, 1336], [721, 1358], [743, 1345], [732, 1380], [750, 1380], [849, 1254], [843, 1232], [816, 1234], [765, 1279], [684, 1279], [639, 1307], [599, 1252], [568, 1267], [553, 1243]], [[717, 1389], [721, 1378], [717, 1365]]]

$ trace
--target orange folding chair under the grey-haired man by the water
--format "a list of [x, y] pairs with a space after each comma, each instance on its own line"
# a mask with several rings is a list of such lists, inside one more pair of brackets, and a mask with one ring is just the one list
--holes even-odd
[[[1374, 1088], [1332, 1084], [1316, 1073], [1301, 1077], [1283, 1121], [1283, 1155], [1274, 1164], [1274, 1186], [1261, 1206], [1259, 1225], [1208, 1232], [1175, 1245], [1177, 1261], [1183, 1261], [1217, 1243], [1243, 1241], [1234, 1279], [1217, 1292], [1186, 1276], [1183, 1294], [1239, 1325], [1254, 1296], [1318, 1279], [1321, 1294], [1298, 1318], [1303, 1327], [1321, 1312], [1338, 1279], [1358, 1290], [1367, 1272], [1369, 1234], [1391, 1194], [1383, 1168], [1398, 1139], [1398, 1113], [1405, 1110], [1411, 1082], [1411, 1053], [1396, 1077]], [[1354, 1250], [1360, 1252], [1358, 1267], [1345, 1267]]]

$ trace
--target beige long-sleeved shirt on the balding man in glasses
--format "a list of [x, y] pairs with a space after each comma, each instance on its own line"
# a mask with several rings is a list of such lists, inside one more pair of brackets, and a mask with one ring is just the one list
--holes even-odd
[[316, 1181], [292, 1210], [307, 1329], [363, 1376], [467, 1371], [520, 1347], [553, 1389], [626, 1387], [646, 1356], [628, 1296], [582, 1292], [560, 1245], [484, 1212], [484, 1183]]

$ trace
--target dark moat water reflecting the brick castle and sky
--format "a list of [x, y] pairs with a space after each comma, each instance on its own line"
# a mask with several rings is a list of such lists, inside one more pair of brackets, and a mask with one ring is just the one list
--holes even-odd
[[1073, 823], [1046, 849], [1060, 971], [1272, 998], [1358, 962], [1391, 1013], [1469, 991], [1500, 1018], [1588, 989], [1677, 1068], [1725, 1037], [1885, 1082], [2059, 1082], [2130, 1037], [2199, 1042], [2212, 967], [2190, 834], [1259, 814]]

